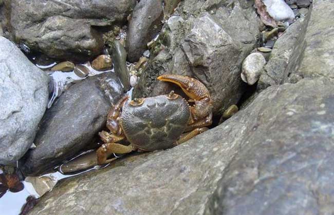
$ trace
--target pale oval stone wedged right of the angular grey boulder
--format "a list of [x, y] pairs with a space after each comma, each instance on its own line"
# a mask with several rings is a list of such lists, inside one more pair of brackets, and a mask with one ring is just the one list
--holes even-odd
[[260, 53], [252, 53], [248, 55], [242, 67], [241, 78], [249, 85], [253, 85], [261, 75], [261, 70], [266, 64], [265, 57]]

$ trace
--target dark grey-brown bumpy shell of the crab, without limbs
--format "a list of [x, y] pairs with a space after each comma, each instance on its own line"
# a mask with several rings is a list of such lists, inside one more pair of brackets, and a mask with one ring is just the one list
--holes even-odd
[[188, 102], [174, 94], [144, 98], [139, 104], [126, 101], [119, 122], [136, 148], [153, 151], [173, 147], [190, 117]]

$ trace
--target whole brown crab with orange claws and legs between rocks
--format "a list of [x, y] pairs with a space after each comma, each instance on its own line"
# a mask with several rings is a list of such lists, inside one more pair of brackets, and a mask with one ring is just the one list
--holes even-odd
[[[212, 124], [213, 102], [205, 85], [181, 75], [161, 75], [158, 80], [177, 84], [189, 100], [174, 91], [132, 101], [128, 96], [121, 98], [107, 115], [106, 126], [110, 132], [99, 133], [104, 144], [97, 150], [98, 164], [114, 160], [108, 159], [112, 154], [171, 148], [208, 130], [207, 126]], [[118, 143], [121, 140], [130, 144]]]

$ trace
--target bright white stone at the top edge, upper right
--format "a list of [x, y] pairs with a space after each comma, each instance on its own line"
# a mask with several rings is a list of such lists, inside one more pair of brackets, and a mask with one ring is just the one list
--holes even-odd
[[267, 6], [267, 11], [276, 21], [291, 21], [294, 13], [284, 0], [263, 0]]

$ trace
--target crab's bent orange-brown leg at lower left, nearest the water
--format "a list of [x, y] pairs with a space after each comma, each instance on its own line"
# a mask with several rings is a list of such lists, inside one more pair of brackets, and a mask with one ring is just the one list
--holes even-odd
[[119, 143], [104, 143], [96, 152], [98, 157], [98, 164], [101, 165], [115, 160], [114, 158], [107, 160], [107, 158], [113, 153], [126, 154], [131, 153], [133, 150], [135, 150], [135, 148], [131, 144], [122, 145]]

